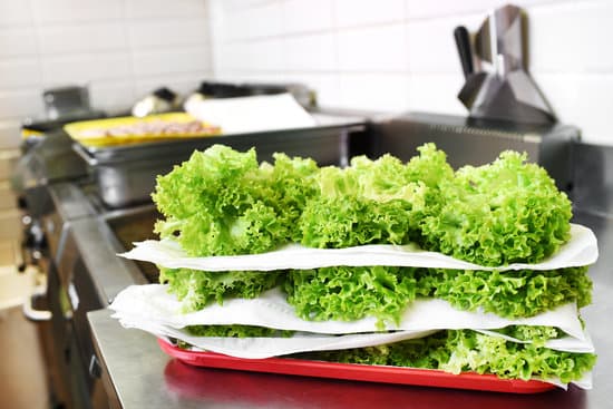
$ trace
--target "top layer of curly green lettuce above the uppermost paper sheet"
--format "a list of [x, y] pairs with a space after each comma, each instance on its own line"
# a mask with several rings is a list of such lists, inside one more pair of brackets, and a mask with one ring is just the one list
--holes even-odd
[[526, 155], [454, 172], [434, 144], [418, 150], [406, 164], [360, 156], [341, 169], [283, 154], [259, 164], [254, 149], [214, 145], [158, 176], [156, 231], [189, 255], [415, 242], [492, 266], [539, 262], [570, 238], [571, 202]]

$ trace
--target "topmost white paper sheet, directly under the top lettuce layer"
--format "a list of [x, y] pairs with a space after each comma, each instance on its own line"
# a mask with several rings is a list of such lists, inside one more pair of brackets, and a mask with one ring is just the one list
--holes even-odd
[[134, 243], [135, 247], [119, 254], [126, 259], [155, 263], [169, 269], [202, 271], [273, 271], [285, 269], [318, 269], [348, 265], [389, 265], [453, 270], [556, 270], [590, 265], [599, 257], [594, 233], [582, 225], [571, 225], [571, 240], [558, 252], [537, 264], [515, 263], [506, 266], [481, 266], [436, 252], [427, 252], [415, 245], [373, 244], [347, 249], [311, 249], [299, 244], [285, 245], [262, 254], [191, 257], [171, 240]]

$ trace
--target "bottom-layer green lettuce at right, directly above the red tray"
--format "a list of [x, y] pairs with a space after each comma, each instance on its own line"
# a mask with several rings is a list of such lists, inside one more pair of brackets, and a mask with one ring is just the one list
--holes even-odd
[[593, 353], [555, 351], [516, 343], [471, 330], [446, 330], [398, 343], [306, 354], [311, 359], [344, 363], [471, 371], [499, 378], [580, 380], [596, 361]]

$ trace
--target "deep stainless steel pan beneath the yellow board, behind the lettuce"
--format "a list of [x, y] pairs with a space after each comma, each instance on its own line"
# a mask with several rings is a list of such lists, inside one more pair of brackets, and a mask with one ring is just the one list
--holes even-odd
[[195, 149], [224, 144], [239, 150], [255, 147], [260, 160], [272, 154], [315, 159], [320, 165], [342, 165], [348, 157], [348, 135], [363, 129], [361, 118], [315, 115], [321, 125], [312, 128], [236, 134], [220, 137], [187, 138], [164, 143], [87, 147], [75, 144], [95, 175], [98, 193], [110, 207], [125, 207], [150, 201], [156, 175], [169, 172], [187, 160]]

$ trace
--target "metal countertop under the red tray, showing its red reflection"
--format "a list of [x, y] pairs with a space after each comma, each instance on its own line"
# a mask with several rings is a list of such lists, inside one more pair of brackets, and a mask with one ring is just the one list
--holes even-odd
[[126, 330], [108, 310], [88, 313], [111, 407], [140, 408], [555, 408], [613, 407], [613, 218], [577, 214], [599, 237], [593, 304], [582, 310], [599, 361], [594, 388], [536, 395], [464, 391], [194, 368], [167, 357], [154, 337]]

